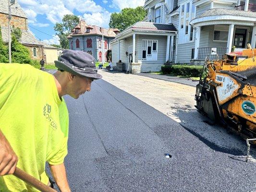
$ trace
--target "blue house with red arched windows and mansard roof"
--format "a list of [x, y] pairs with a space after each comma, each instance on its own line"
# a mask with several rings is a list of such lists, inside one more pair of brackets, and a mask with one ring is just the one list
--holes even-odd
[[69, 49], [85, 51], [99, 62], [103, 60], [103, 57], [107, 61], [107, 54], [111, 49], [110, 41], [119, 32], [118, 29], [105, 29], [97, 25], [88, 25], [85, 19], [80, 18], [79, 23], [72, 30], [72, 34], [67, 37]]

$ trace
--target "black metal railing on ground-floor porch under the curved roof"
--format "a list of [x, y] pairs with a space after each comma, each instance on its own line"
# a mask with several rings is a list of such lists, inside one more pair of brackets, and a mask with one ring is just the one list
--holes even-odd
[[[219, 59], [221, 59], [222, 55], [227, 52], [227, 48], [216, 48], [216, 52], [219, 55]], [[217, 59], [217, 55], [212, 55], [212, 48], [198, 48], [197, 59], [205, 59], [207, 55], [209, 55], [210, 60]]]

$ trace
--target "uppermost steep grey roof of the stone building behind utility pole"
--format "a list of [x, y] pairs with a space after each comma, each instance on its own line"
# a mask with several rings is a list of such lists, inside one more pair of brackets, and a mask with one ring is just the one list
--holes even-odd
[[[8, 0], [0, 0], [0, 13], [9, 14]], [[11, 6], [11, 14], [15, 16], [27, 18], [25, 12], [22, 10], [17, 0], [15, 0], [15, 4]]]

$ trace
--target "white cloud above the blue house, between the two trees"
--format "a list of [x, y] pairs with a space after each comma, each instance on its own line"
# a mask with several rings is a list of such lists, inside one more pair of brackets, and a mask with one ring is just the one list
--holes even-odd
[[108, 11], [95, 12], [95, 13], [85, 13], [83, 18], [87, 24], [97, 25], [105, 28], [109, 28], [111, 13]]

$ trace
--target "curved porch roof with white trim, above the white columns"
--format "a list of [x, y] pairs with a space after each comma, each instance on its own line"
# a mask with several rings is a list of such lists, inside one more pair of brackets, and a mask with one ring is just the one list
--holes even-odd
[[191, 20], [190, 24], [195, 26], [211, 24], [243, 24], [254, 26], [255, 22], [256, 12], [214, 8], [207, 10], [203, 14]]

